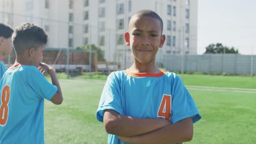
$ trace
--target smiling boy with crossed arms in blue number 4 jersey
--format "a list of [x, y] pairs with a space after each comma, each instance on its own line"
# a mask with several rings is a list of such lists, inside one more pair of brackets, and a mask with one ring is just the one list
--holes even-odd
[[133, 64], [108, 76], [97, 109], [108, 143], [182, 143], [191, 141], [201, 115], [181, 79], [155, 65], [164, 45], [163, 23], [152, 10], [131, 17], [124, 34]]

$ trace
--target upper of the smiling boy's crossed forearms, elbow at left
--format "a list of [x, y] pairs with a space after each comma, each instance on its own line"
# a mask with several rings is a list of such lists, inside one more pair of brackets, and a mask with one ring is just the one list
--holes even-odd
[[105, 110], [103, 123], [107, 133], [119, 136], [136, 136], [158, 130], [170, 124], [161, 118], [136, 118]]

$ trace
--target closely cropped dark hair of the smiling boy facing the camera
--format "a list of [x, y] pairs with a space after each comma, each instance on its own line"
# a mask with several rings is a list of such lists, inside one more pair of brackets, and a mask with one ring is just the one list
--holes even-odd
[[[155, 11], [150, 10], [150, 9], [143, 9], [135, 13], [133, 16], [145, 16], [145, 17], [152, 17], [156, 20], [159, 20], [160, 26], [161, 26], [161, 32], [164, 29], [164, 23], [162, 22], [161, 17], [155, 13]], [[133, 17], [132, 16], [132, 17]]]

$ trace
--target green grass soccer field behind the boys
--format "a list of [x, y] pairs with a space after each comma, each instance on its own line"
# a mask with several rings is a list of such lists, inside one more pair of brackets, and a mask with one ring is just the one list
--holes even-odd
[[[101, 78], [102, 79], [102, 78]], [[222, 82], [219, 82], [222, 81]], [[64, 101], [45, 101], [45, 143], [107, 143], [96, 110], [105, 80], [60, 79]], [[256, 79], [184, 75], [185, 85], [256, 88]], [[247, 84], [249, 83], [249, 84]], [[255, 143], [256, 93], [188, 89], [202, 114], [188, 143]]]

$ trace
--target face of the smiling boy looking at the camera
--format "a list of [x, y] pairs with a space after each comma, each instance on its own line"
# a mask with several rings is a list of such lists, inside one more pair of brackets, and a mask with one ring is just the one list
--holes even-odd
[[156, 52], [165, 42], [161, 31], [160, 21], [153, 17], [136, 16], [131, 19], [125, 41], [131, 47], [135, 61], [142, 64], [155, 62]]

